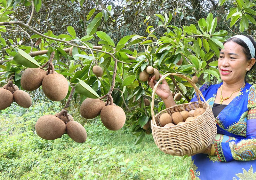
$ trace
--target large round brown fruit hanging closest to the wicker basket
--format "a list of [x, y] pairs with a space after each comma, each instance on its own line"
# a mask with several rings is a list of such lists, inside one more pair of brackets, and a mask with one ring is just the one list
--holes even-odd
[[125, 113], [119, 106], [105, 106], [100, 112], [100, 119], [103, 125], [109, 130], [118, 130], [124, 126]]

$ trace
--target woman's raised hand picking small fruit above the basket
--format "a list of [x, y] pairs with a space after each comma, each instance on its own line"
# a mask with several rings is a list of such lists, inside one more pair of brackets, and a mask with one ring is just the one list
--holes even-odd
[[[160, 78], [162, 77], [162, 75], [160, 74]], [[149, 86], [154, 89], [155, 84], [157, 83], [156, 81], [156, 76], [154, 75], [153, 77], [149, 76], [148, 78], [148, 84]], [[167, 98], [170, 98], [170, 96], [172, 96], [171, 90], [169, 88], [169, 85], [167, 83], [167, 81], [164, 79], [162, 81], [162, 84], [159, 84], [157, 86], [156, 89], [156, 94], [162, 99], [165, 100]]]

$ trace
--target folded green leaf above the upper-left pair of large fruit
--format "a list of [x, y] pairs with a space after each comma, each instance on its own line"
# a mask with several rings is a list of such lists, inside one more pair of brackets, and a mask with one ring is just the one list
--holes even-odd
[[32, 58], [29, 54], [25, 51], [16, 48], [18, 50], [17, 54], [13, 57], [13, 60], [22, 66], [30, 67], [30, 68], [37, 68], [40, 67], [39, 63]]

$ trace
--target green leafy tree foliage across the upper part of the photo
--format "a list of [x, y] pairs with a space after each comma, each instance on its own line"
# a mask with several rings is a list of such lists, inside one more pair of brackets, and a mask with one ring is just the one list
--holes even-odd
[[[196, 75], [198, 85], [220, 81], [222, 43], [238, 33], [255, 36], [255, 4], [230, 2], [1, 0], [0, 82], [11, 77], [20, 87], [29, 64], [42, 66], [55, 52], [54, 68], [67, 78], [69, 91], [76, 86], [75, 99], [112, 97], [126, 109], [135, 144], [143, 145], [150, 130], [142, 127], [151, 120], [144, 98], [152, 89], [140, 81], [140, 72], [150, 65], [161, 74]], [[13, 58], [18, 52], [26, 56], [23, 62]], [[94, 65], [104, 70], [101, 78], [92, 73]], [[191, 84], [179, 77], [167, 82], [183, 95], [177, 104], [189, 102], [195, 92]], [[155, 113], [165, 108], [158, 98], [155, 104]]]

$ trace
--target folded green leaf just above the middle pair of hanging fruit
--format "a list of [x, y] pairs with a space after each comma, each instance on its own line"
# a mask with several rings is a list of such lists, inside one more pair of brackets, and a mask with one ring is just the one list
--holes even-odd
[[99, 95], [97, 94], [97, 92], [95, 92], [95, 90], [93, 90], [88, 84], [86, 84], [84, 81], [82, 81], [81, 79], [78, 79], [79, 83], [76, 85], [76, 92], [78, 94], [82, 94], [88, 98], [100, 98]]

